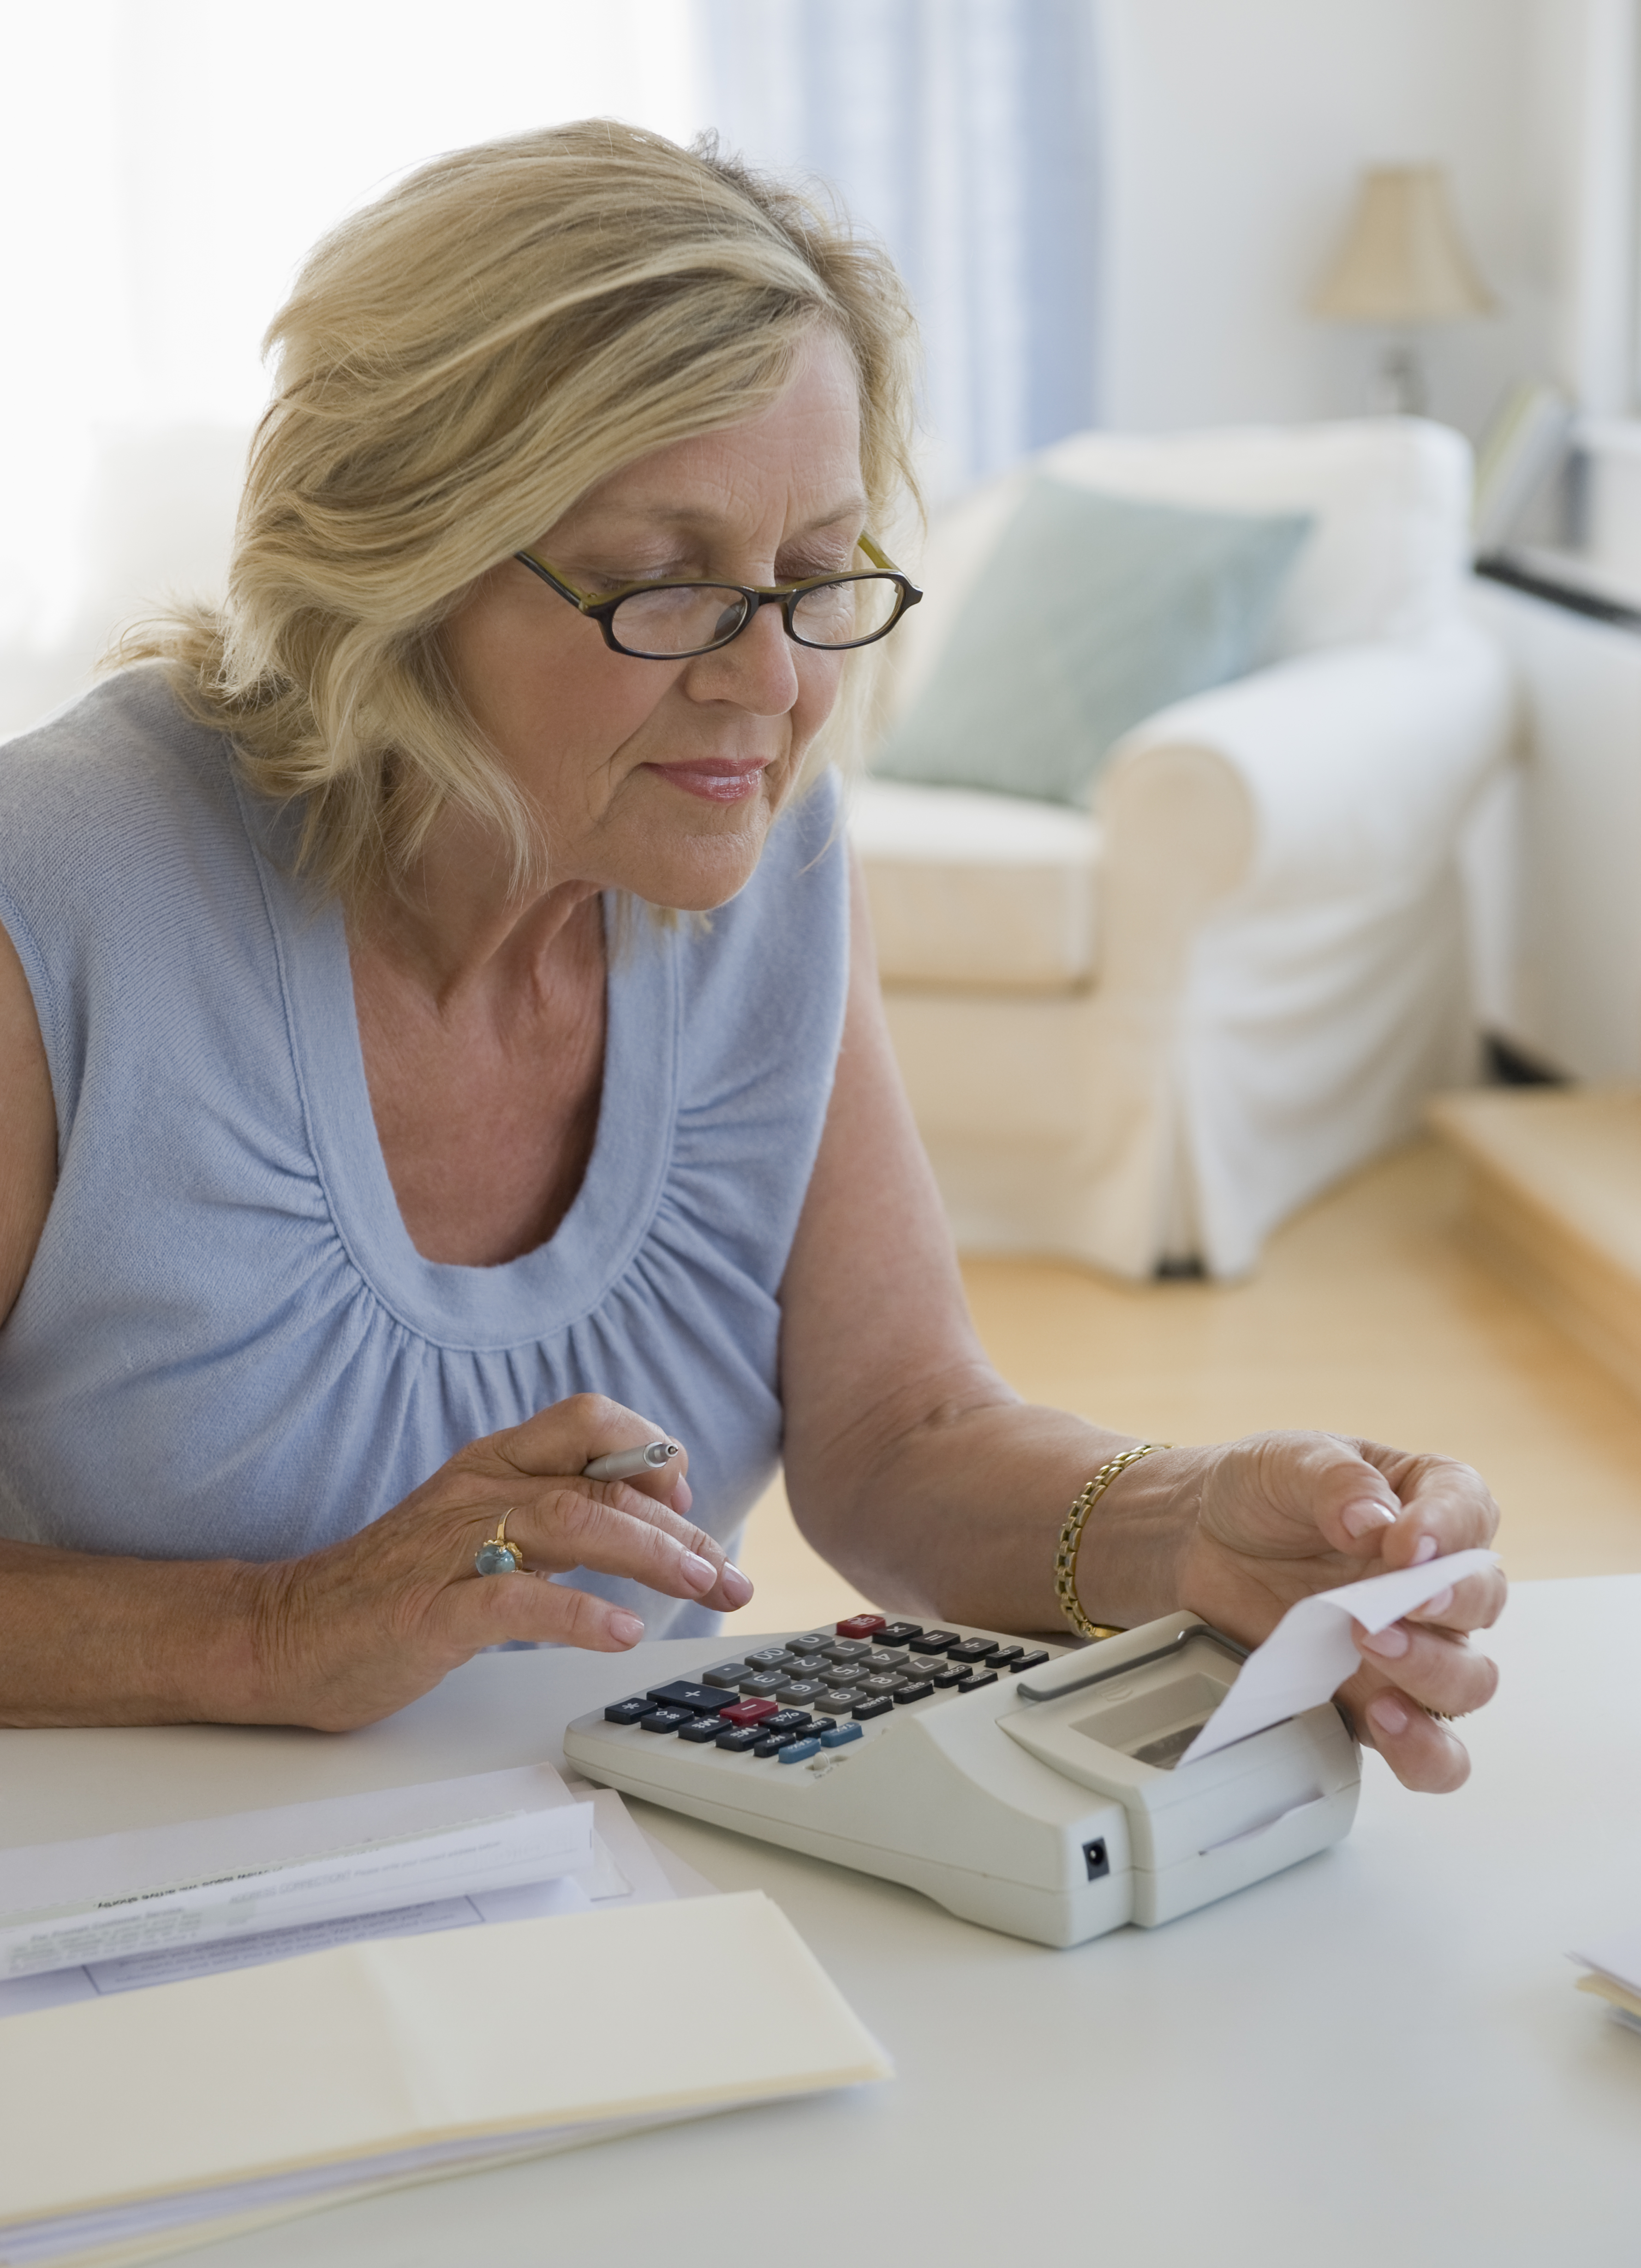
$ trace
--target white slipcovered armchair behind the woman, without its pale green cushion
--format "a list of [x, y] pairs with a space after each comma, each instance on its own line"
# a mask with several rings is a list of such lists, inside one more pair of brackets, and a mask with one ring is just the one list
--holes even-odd
[[1262, 667], [1129, 733], [1090, 814], [859, 785], [895, 1048], [966, 1250], [1235, 1277], [1473, 1075], [1455, 853], [1512, 699], [1460, 615], [1469, 451], [1417, 420], [1061, 442], [936, 515], [884, 721], [1031, 472], [1315, 526]]

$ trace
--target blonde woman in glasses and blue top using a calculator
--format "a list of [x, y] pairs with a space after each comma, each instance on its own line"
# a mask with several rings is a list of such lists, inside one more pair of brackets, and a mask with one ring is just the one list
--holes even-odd
[[[347, 222], [272, 345], [227, 612], [0, 762], [5, 1721], [342, 1728], [709, 1628], [777, 1458], [875, 1599], [1011, 1631], [1258, 1640], [1489, 1540], [1466, 1467], [1151, 1449], [970, 1331], [825, 769], [916, 596], [875, 252], [571, 127]], [[689, 1479], [583, 1476], [657, 1433]], [[1500, 1601], [1360, 1642], [1414, 1787]]]

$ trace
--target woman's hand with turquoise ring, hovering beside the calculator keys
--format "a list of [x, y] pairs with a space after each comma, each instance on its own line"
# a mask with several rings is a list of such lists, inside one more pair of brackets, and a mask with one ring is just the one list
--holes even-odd
[[[573, 1567], [716, 1613], [746, 1606], [753, 1585], [687, 1517], [687, 1456], [635, 1481], [583, 1479], [596, 1456], [660, 1433], [619, 1402], [571, 1395], [469, 1442], [358, 1535], [247, 1567], [258, 1699], [245, 1715], [340, 1733], [392, 1715], [510, 1637], [601, 1653], [637, 1644], [637, 1615], [542, 1581]], [[526, 1572], [481, 1576], [474, 1554], [503, 1513]]]

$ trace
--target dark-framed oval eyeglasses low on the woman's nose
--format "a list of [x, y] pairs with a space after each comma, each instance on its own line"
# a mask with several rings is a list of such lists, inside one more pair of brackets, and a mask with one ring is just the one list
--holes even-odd
[[515, 551], [515, 558], [530, 574], [539, 574], [560, 599], [569, 599], [576, 612], [596, 621], [612, 653], [630, 653], [639, 662], [685, 662], [694, 653], [716, 653], [719, 646], [728, 646], [759, 606], [777, 606], [787, 637], [823, 653], [843, 653], [888, 637], [922, 592], [870, 535], [861, 535], [861, 551], [875, 574], [825, 574], [780, 590], [748, 583], [628, 583], [610, 599], [589, 599], [533, 551]]

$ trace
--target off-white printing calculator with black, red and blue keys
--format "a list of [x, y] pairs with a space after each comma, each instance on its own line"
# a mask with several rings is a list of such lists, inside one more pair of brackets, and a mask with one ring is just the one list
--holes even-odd
[[1183, 1765], [1244, 1649], [1179, 1610], [1088, 1647], [850, 1615], [578, 1717], [623, 1794], [807, 1851], [966, 1921], [1077, 1946], [1340, 1842], [1360, 1758], [1333, 1703]]

